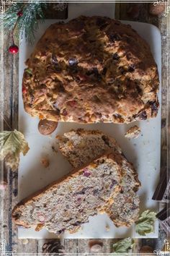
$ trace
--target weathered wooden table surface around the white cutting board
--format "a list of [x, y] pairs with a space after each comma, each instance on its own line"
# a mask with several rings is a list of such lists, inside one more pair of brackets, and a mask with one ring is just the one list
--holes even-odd
[[[162, 35], [162, 129], [161, 129], [161, 170], [166, 168], [166, 117], [167, 109], [167, 90], [166, 81], [168, 75], [168, 17], [153, 17], [148, 14], [148, 4], [138, 4], [140, 12], [138, 17], [133, 14], [128, 16], [127, 10], [133, 7], [133, 4], [116, 4], [115, 18], [117, 20], [135, 20], [148, 22], [156, 25], [161, 30]], [[68, 4], [69, 8], [69, 4]], [[169, 14], [170, 15], [170, 14]], [[9, 54], [7, 49], [10, 46], [9, 35], [4, 38], [4, 129], [17, 129], [18, 124], [18, 55]], [[4, 179], [7, 181], [7, 188], [4, 191], [4, 239], [6, 239], [6, 251], [41, 253], [43, 240], [35, 239], [17, 239], [17, 227], [12, 223], [12, 208], [17, 203], [17, 172], [12, 172], [4, 168]], [[153, 249], [161, 249], [164, 245], [166, 235], [160, 229], [158, 239], [135, 239], [133, 252], [138, 255], [141, 245], [151, 245]], [[102, 252], [112, 252], [113, 239], [101, 239], [103, 243]], [[63, 241], [65, 251], [79, 255], [79, 253], [89, 252], [89, 239], [65, 239]]]

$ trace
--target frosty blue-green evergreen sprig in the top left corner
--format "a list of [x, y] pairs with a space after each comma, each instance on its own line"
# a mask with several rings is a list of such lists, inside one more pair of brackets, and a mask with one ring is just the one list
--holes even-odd
[[[17, 3], [6, 9], [4, 15], [4, 31], [12, 33], [12, 40], [19, 39], [25, 34], [25, 38], [29, 43], [33, 43], [35, 39], [35, 31], [38, 28], [38, 21], [43, 22], [44, 11], [47, 4], [39, 3]], [[22, 12], [22, 16], [17, 15]]]

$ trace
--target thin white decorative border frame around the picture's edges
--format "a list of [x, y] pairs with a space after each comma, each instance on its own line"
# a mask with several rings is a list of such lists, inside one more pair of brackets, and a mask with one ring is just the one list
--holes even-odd
[[[32, 2], [35, 2], [36, 0], [32, 0]], [[0, 128], [1, 128], [1, 131], [0, 132], [3, 132], [4, 130], [4, 97], [3, 97], [3, 93], [4, 93], [4, 7], [6, 4], [16, 4], [16, 3], [27, 3], [29, 2], [29, 0], [22, 0], [22, 1], [13, 1], [13, 0], [1, 0], [1, 6], [0, 6], [0, 14], [1, 14], [1, 30], [0, 30], [0, 40], [1, 40], [1, 44], [0, 44], [0, 48], [1, 48], [1, 51], [0, 51], [0, 56], [1, 56], [1, 60], [0, 60], [0, 81], [1, 81], [1, 88], [0, 88], [0, 113], [1, 113], [1, 120], [0, 120]], [[56, 3], [56, 0], [41, 0], [39, 1], [40, 3]], [[107, 1], [104, 1], [104, 0], [94, 0], [94, 1], [90, 1], [90, 0], [87, 0], [87, 1], [84, 1], [84, 0], [79, 0], [79, 1], [71, 1], [71, 0], [67, 0], [66, 1], [67, 3], [103, 3], [104, 4], [107, 4], [107, 3], [153, 3], [154, 5], [157, 5], [157, 4], [165, 4], [167, 7], [169, 7], [167, 9], [166, 7], [166, 12], [164, 12], [164, 16], [167, 17], [167, 20], [166, 20], [166, 25], [167, 25], [167, 28], [170, 29], [170, 3], [169, 3], [169, 0], [165, 1], [165, 0], [157, 0], [157, 1], [152, 1], [152, 0], [141, 0], [141, 1], [136, 1], [136, 0], [131, 0], [131, 1], [128, 1], [128, 0], [107, 0]], [[169, 30], [168, 30], [169, 31]], [[170, 36], [169, 34], [167, 34], [167, 45], [170, 46]], [[167, 157], [167, 179], [169, 180], [169, 169], [170, 169], [170, 165], [169, 165], [169, 154], [170, 154], [170, 149], [169, 149], [169, 134], [170, 134], [170, 131], [169, 131], [169, 93], [170, 93], [170, 89], [169, 89], [169, 85], [170, 85], [170, 81], [169, 81], [169, 77], [170, 77], [170, 70], [169, 70], [169, 50], [170, 48], [168, 47], [168, 52], [167, 52], [167, 80], [166, 80], [166, 92], [167, 92], [167, 97], [166, 97], [166, 146], [167, 146], [167, 153], [166, 153], [166, 157]], [[0, 147], [2, 148], [2, 145], [0, 145]], [[1, 151], [1, 148], [0, 148], [0, 151]], [[4, 176], [4, 161], [1, 161], [0, 163], [0, 168], [1, 168], [1, 183], [3, 182], [3, 176]], [[169, 207], [169, 202], [168, 202], [168, 207]], [[21, 253], [17, 253], [17, 252], [6, 252], [6, 249], [5, 249], [5, 240], [4, 240], [4, 231], [3, 231], [3, 220], [4, 220], [4, 199], [3, 199], [3, 190], [0, 189], [0, 213], [1, 213], [1, 216], [0, 216], [0, 234], [1, 234], [1, 240], [0, 240], [0, 255], [1, 256], [7, 256], [7, 255], [46, 255], [46, 254], [43, 254], [43, 253], [30, 253], [30, 252], [21, 252]], [[169, 214], [169, 212], [168, 212]], [[145, 255], [170, 255], [170, 246], [169, 246], [169, 234], [167, 236], [167, 240], [165, 240], [165, 243], [166, 243], [166, 248], [168, 249], [168, 252], [161, 252], [161, 251], [154, 251], [153, 254], [151, 253], [145, 253]], [[59, 254], [55, 254], [55, 255], [59, 255]], [[68, 255], [75, 255], [73, 253], [66, 253], [64, 254], [66, 256]], [[94, 255], [92, 253], [79, 253], [79, 255]], [[99, 254], [96, 254], [96, 255], [108, 255], [108, 256], [111, 256], [113, 255], [112, 253], [99, 253]], [[124, 253], [118, 253], [118, 254], [115, 254], [115, 255], [123, 255], [125, 256]], [[136, 252], [135, 253], [128, 253], [129, 256], [131, 255], [134, 255], [136, 256]], [[143, 253], [138, 253], [138, 255], [143, 255]]]

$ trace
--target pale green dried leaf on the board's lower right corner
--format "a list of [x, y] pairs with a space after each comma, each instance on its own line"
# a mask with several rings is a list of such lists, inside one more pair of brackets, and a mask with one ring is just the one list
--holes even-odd
[[146, 234], [154, 231], [155, 221], [156, 213], [145, 210], [138, 218], [138, 221], [135, 222], [135, 231], [140, 234], [140, 236], [146, 236]]

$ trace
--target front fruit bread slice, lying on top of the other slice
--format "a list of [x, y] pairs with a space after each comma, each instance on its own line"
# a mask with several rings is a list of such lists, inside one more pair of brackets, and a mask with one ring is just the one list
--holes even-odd
[[75, 231], [96, 215], [120, 191], [122, 169], [115, 153], [96, 160], [19, 202], [12, 211], [15, 223], [50, 232]]

